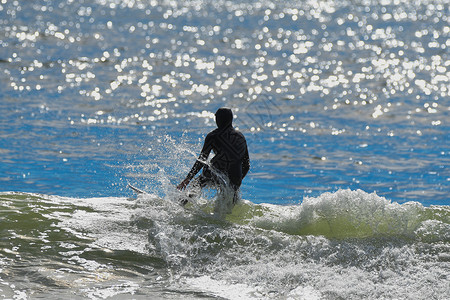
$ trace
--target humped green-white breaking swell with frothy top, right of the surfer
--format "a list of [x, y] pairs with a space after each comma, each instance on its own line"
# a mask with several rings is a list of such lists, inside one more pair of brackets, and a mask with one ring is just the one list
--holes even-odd
[[264, 204], [255, 226], [289, 234], [324, 235], [334, 238], [376, 235], [414, 235], [425, 208], [417, 202], [398, 204], [361, 190], [339, 190], [300, 205]]

